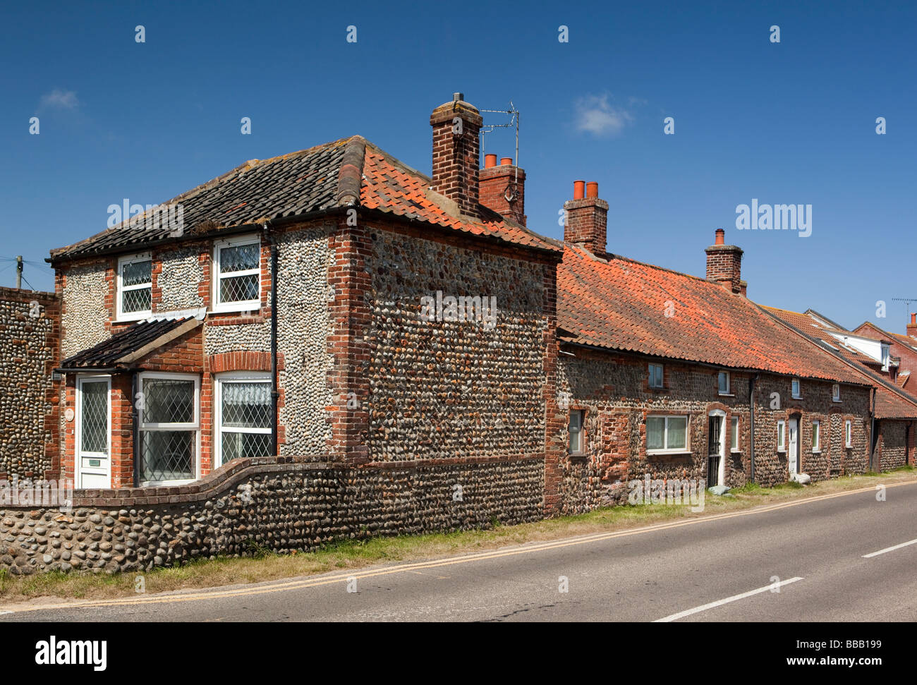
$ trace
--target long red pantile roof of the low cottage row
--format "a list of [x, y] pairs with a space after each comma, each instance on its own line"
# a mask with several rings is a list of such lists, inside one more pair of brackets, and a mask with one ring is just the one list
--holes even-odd
[[718, 283], [571, 246], [558, 267], [558, 327], [594, 347], [868, 384]]

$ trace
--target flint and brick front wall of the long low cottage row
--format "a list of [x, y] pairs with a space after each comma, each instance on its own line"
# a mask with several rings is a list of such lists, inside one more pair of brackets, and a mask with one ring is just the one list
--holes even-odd
[[[724, 421], [725, 481], [740, 487], [750, 480], [749, 404], [750, 377], [730, 374], [731, 388], [719, 394], [718, 370], [662, 360], [664, 387], [647, 383], [649, 359], [570, 347], [575, 357], [558, 360], [558, 405], [584, 411], [585, 449], [581, 456], [565, 453], [559, 462], [558, 511], [578, 514], [598, 506], [623, 503], [626, 483], [642, 480], [691, 479], [710, 481], [707, 473], [708, 415], [726, 414]], [[863, 473], [868, 465], [867, 388], [842, 385], [841, 402], [832, 400], [832, 384], [801, 380], [801, 397], [790, 395], [790, 377], [761, 373], [755, 383], [755, 482], [773, 486], [788, 480], [788, 451], [779, 450], [777, 425], [785, 422], [789, 446], [790, 416], [800, 419], [800, 462], [812, 481], [842, 474]], [[689, 447], [683, 454], [646, 454], [646, 415], [676, 414], [689, 417]], [[738, 448], [732, 450], [732, 418], [738, 417]], [[821, 448], [812, 448], [812, 421], [821, 422]], [[851, 421], [851, 447], [843, 436]], [[560, 442], [569, 446], [564, 425]], [[891, 438], [895, 445], [903, 443]], [[902, 450], [898, 450], [901, 451]], [[903, 453], [903, 452], [902, 452]], [[894, 463], [900, 460], [898, 452]], [[889, 468], [883, 463], [883, 468]]]

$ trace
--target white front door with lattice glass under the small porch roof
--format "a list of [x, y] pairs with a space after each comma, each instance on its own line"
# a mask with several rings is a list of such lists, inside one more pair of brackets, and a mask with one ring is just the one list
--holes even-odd
[[76, 380], [76, 487], [110, 488], [111, 377]]

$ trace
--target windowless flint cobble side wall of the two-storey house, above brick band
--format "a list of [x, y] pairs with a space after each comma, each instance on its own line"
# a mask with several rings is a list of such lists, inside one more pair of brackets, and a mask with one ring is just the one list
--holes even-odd
[[[370, 459], [545, 451], [545, 266], [370, 226]], [[492, 326], [427, 321], [423, 298], [495, 297]]]

